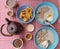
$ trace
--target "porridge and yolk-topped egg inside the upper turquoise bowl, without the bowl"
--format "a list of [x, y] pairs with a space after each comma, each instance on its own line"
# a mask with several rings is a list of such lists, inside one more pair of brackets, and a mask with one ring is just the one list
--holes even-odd
[[54, 11], [49, 6], [41, 6], [37, 11], [37, 17], [41, 22], [46, 20], [52, 21], [54, 17]]

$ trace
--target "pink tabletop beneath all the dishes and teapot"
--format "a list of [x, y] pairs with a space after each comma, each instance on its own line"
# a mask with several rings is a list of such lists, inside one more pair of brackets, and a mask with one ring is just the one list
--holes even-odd
[[[36, 8], [36, 6], [39, 3], [44, 2], [44, 1], [49, 1], [49, 2], [54, 3], [56, 5], [56, 7], [58, 8], [58, 10], [60, 10], [60, 0], [17, 0], [19, 6], [24, 5], [24, 4], [28, 4], [28, 5], [33, 6], [34, 9]], [[5, 2], [6, 2], [6, 0], [0, 0], [0, 27], [1, 27], [2, 24], [6, 23], [6, 21], [5, 21], [6, 17], [9, 18], [12, 21], [18, 21], [16, 19], [16, 17], [11, 18], [11, 17], [7, 16], [7, 11], [10, 10], [10, 9], [8, 9], [6, 7]], [[16, 11], [17, 8], [15, 8], [14, 10]], [[59, 13], [60, 13], [60, 11], [59, 11]], [[34, 36], [34, 33], [39, 28], [41, 28], [42, 25], [38, 24], [36, 22], [36, 20], [33, 20], [31, 22], [31, 24], [33, 24], [35, 26], [35, 30], [31, 33]], [[24, 24], [25, 28], [26, 28], [26, 25], [28, 25], [28, 24]], [[57, 31], [57, 33], [60, 37], [60, 14], [59, 14], [58, 20], [53, 25], [55, 26], [55, 28], [56, 28], [55, 30]], [[3, 31], [5, 33], [7, 33], [6, 26], [4, 27]], [[14, 35], [12, 37], [5, 37], [5, 36], [0, 34], [0, 49], [15, 49], [12, 45], [12, 42], [16, 38], [22, 38], [23, 41], [24, 41], [24, 45], [21, 49], [37, 49], [35, 44], [34, 44], [33, 38], [30, 41], [25, 40], [25, 34], [26, 33], [28, 33], [28, 31], [25, 30], [22, 34]], [[58, 45], [55, 49], [60, 49], [60, 42], [58, 43]]]

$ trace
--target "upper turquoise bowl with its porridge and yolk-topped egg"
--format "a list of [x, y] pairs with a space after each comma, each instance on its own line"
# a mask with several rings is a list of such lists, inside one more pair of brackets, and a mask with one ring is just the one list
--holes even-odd
[[35, 18], [42, 25], [46, 20], [53, 24], [58, 19], [58, 9], [51, 2], [42, 2], [36, 7]]

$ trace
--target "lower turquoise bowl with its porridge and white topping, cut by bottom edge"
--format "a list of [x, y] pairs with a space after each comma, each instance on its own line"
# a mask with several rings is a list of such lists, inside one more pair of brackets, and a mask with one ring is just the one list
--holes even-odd
[[34, 43], [38, 49], [54, 49], [58, 41], [57, 32], [50, 27], [40, 28], [34, 35]]

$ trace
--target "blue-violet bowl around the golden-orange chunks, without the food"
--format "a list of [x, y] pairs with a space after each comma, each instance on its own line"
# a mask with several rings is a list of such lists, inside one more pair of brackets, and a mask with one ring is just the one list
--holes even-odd
[[32, 8], [32, 7], [29, 6], [29, 5], [23, 5], [23, 6], [20, 6], [20, 7], [18, 8], [17, 13], [16, 13], [16, 17], [17, 17], [18, 21], [21, 22], [21, 23], [30, 23], [31, 21], [33, 21], [33, 19], [34, 19], [34, 17], [35, 17], [34, 9], [33, 9], [33, 8], [32, 8], [32, 10], [33, 10], [33, 12], [32, 12], [32, 18], [29, 19], [27, 22], [24, 22], [24, 21], [19, 17], [21, 10], [26, 9], [26, 7]]

